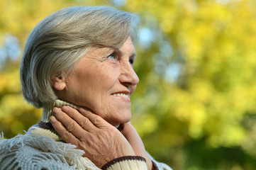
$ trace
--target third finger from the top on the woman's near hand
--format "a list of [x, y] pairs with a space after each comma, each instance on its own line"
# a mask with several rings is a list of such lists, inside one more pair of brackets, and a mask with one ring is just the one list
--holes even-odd
[[[87, 131], [84, 130], [75, 120], [69, 117], [65, 112], [63, 112], [60, 108], [53, 108], [53, 112], [55, 113], [55, 118], [57, 121], [59, 121], [65, 130], [67, 132], [70, 132], [74, 137], [77, 139], [81, 140], [84, 135], [86, 135]], [[62, 128], [62, 134], [65, 135], [64, 133], [65, 130]], [[57, 131], [57, 130], [56, 130]], [[68, 137], [66, 137], [68, 139]], [[66, 141], [70, 142], [70, 141]], [[73, 142], [73, 141], [72, 141]]]

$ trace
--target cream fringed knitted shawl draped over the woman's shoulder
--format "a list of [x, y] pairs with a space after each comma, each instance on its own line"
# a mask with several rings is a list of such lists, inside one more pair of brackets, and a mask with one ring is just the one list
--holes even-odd
[[74, 145], [41, 135], [18, 135], [0, 142], [0, 169], [87, 169], [93, 167]]

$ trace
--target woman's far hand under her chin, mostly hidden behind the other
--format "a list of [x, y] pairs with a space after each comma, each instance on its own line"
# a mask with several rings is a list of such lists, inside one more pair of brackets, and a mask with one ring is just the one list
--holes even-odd
[[133, 125], [129, 123], [122, 124], [121, 132], [124, 137], [126, 137], [126, 140], [130, 143], [130, 145], [133, 147], [133, 151], [137, 156], [144, 157], [147, 161], [148, 169], [153, 169], [152, 161], [148, 157], [148, 154], [145, 150], [145, 147], [143, 145], [143, 141], [141, 140], [140, 136], [138, 135], [138, 132], [133, 128]]

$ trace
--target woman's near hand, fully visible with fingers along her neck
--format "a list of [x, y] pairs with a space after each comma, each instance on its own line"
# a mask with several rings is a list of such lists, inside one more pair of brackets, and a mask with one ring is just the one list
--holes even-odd
[[99, 168], [115, 158], [135, 155], [121, 132], [99, 115], [85, 108], [77, 111], [69, 106], [53, 111], [53, 128], [63, 140], [84, 150], [84, 156]]

